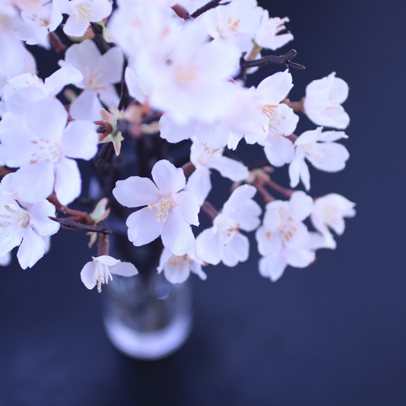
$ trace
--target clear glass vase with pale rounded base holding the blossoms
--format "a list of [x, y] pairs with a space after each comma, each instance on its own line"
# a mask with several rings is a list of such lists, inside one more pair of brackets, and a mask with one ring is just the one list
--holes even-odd
[[172, 284], [164, 274], [157, 274], [160, 242], [159, 246], [153, 242], [134, 247], [126, 235], [118, 235], [110, 251], [139, 270], [129, 278], [114, 275], [103, 286], [103, 320], [111, 343], [135, 359], [162, 359], [172, 354], [192, 329], [189, 281]]

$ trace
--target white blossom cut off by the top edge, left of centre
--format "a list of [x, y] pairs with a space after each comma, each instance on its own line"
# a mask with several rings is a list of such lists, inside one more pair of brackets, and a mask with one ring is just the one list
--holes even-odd
[[99, 22], [109, 17], [111, 13], [110, 0], [58, 0], [61, 11], [68, 14], [68, 20], [63, 26], [67, 36], [84, 36], [91, 22]]

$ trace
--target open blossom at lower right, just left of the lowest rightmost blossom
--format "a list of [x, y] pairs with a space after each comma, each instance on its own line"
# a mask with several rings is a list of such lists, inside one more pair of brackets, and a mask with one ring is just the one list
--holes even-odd
[[306, 267], [315, 259], [308, 248], [309, 231], [302, 221], [311, 214], [313, 200], [304, 192], [294, 192], [290, 201], [266, 205], [263, 224], [256, 231], [260, 274], [272, 281], [279, 279], [288, 265]]

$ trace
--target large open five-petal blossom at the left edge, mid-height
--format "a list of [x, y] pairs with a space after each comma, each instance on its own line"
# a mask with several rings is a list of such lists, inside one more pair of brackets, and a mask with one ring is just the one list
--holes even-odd
[[98, 136], [93, 123], [76, 120], [66, 126], [67, 119], [61, 102], [49, 99], [1, 120], [0, 159], [19, 168], [10, 183], [22, 201], [36, 203], [55, 191], [66, 205], [79, 196], [81, 175], [74, 159], [91, 159]]

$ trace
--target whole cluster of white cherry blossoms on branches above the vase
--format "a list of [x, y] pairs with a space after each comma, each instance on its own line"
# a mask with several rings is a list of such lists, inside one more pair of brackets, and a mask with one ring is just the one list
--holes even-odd
[[[209, 264], [246, 261], [249, 232], [256, 233], [259, 272], [272, 281], [288, 265], [313, 263], [317, 249], [336, 248], [331, 231], [343, 233], [354, 203], [335, 193], [311, 197], [309, 164], [345, 168], [349, 153], [336, 141], [348, 138], [348, 85], [333, 72], [291, 102], [297, 64], [288, 59], [258, 86], [246, 84], [267, 60], [261, 52], [293, 39], [288, 17], [270, 17], [256, 0], [117, 0], [115, 8], [111, 0], [6, 0], [0, 21], [1, 265], [19, 247], [19, 264], [32, 267], [50, 236], [69, 225], [91, 231], [90, 246], [100, 233], [98, 254], [81, 271], [86, 288], [100, 291], [112, 274], [137, 274], [109, 256], [108, 199], [136, 209], [126, 220], [134, 246], [162, 240], [157, 272], [172, 283], [191, 272], [205, 279]], [[60, 68], [40, 79], [25, 45], [53, 47]], [[297, 113], [314, 130], [296, 135]], [[157, 150], [150, 176], [133, 173], [100, 187], [91, 213], [69, 207], [83, 192], [77, 159], [103, 165], [107, 145], [111, 164], [128, 140], [156, 136], [169, 147], [187, 143], [187, 159], [175, 166]], [[249, 170], [233, 157], [240, 143], [263, 148], [267, 164]], [[285, 165], [290, 188], [302, 182], [306, 192], [271, 179]], [[221, 210], [208, 201], [212, 170], [234, 182]], [[202, 215], [212, 220], [203, 231]]]

